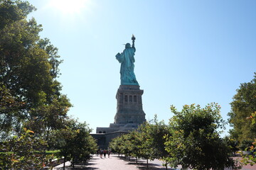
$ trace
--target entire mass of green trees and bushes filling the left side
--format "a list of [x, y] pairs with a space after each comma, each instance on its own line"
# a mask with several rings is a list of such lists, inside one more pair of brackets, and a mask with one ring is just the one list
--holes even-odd
[[0, 164], [13, 169], [42, 169], [54, 156], [47, 149], [75, 163], [97, 147], [87, 125], [67, 117], [58, 48], [26, 18], [33, 10], [28, 1], [0, 0]]

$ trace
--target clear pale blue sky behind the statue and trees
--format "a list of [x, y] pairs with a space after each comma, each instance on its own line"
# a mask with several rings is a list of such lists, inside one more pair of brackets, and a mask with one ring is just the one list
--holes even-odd
[[117, 52], [135, 35], [134, 72], [146, 119], [169, 122], [170, 106], [216, 102], [228, 120], [241, 83], [256, 64], [256, 1], [238, 0], [31, 0], [64, 60], [63, 85], [69, 115], [95, 132], [114, 122], [119, 88]]

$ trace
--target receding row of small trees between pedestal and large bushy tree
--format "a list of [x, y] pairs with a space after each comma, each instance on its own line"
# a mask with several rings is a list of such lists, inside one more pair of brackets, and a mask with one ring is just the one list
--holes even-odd
[[110, 148], [119, 154], [144, 159], [164, 159], [169, 157], [165, 150], [164, 135], [168, 130], [164, 122], [158, 122], [156, 116], [154, 124], [145, 122], [138, 130], [116, 137], [110, 142]]

